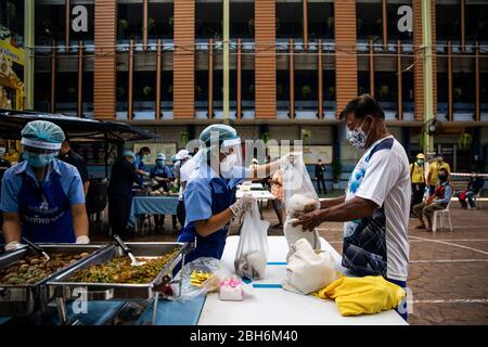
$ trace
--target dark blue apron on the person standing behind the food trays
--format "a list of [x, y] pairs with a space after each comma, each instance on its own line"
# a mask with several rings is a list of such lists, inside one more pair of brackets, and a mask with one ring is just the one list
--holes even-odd
[[23, 236], [33, 242], [76, 242], [69, 198], [55, 172], [42, 187], [23, 174], [17, 201]]

